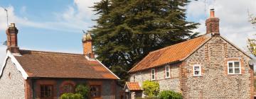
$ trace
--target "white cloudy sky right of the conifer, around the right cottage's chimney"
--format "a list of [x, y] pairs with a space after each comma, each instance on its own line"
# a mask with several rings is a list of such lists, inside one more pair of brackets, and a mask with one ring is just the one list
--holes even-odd
[[[206, 33], [205, 18], [209, 16], [209, 9], [215, 8], [215, 16], [220, 18], [220, 35], [238, 45], [242, 50], [247, 50], [247, 38], [255, 38], [256, 29], [248, 22], [248, 13], [256, 16], [255, 0], [204, 0], [192, 1], [188, 4], [187, 17], [200, 18], [201, 23], [195, 32]], [[206, 16], [205, 16], [206, 14]]]

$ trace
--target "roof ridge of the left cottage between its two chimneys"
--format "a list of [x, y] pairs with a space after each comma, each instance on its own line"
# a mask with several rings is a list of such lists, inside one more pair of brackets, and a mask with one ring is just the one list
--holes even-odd
[[33, 54], [59, 54], [59, 55], [72, 55], [72, 56], [82, 56], [83, 54], [75, 54], [68, 52], [50, 52], [50, 51], [39, 51], [39, 50], [20, 50], [24, 53], [33, 53]]

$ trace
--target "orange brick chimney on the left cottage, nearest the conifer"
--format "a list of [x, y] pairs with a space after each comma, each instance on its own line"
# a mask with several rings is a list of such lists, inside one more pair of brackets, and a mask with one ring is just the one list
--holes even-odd
[[95, 54], [92, 52], [92, 37], [91, 33], [86, 33], [82, 37], [83, 54], [90, 59], [95, 58]]

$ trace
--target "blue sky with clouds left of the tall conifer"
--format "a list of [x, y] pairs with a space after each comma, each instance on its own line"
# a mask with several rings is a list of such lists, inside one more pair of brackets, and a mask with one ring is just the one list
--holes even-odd
[[[76, 17], [73, 16], [78, 16], [80, 12], [75, 1], [1, 0], [0, 6], [9, 8], [9, 14], [12, 14], [9, 15], [10, 23], [16, 23], [19, 30], [18, 45], [23, 49], [81, 53], [82, 30], [88, 30], [94, 25], [91, 19], [96, 18], [91, 14], [88, 15], [89, 17], [80, 18], [81, 22], [76, 22]], [[73, 19], [68, 18], [69, 16], [65, 18], [64, 14], [70, 14]], [[80, 16], [84, 15], [78, 17]], [[75, 27], [77, 25], [79, 26]], [[6, 34], [4, 29], [1, 29], [0, 42], [4, 40], [6, 40]]]

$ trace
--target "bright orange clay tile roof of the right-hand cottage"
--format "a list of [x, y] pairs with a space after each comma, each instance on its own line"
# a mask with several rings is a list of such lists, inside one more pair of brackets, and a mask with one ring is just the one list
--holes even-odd
[[162, 66], [171, 62], [183, 61], [183, 59], [192, 54], [198, 49], [198, 47], [203, 45], [203, 43], [208, 40], [210, 40], [209, 35], [202, 35], [176, 45], [171, 45], [154, 52], [149, 52], [149, 54], [146, 55], [142, 61], [129, 70], [129, 73], [150, 69], [156, 66]]

